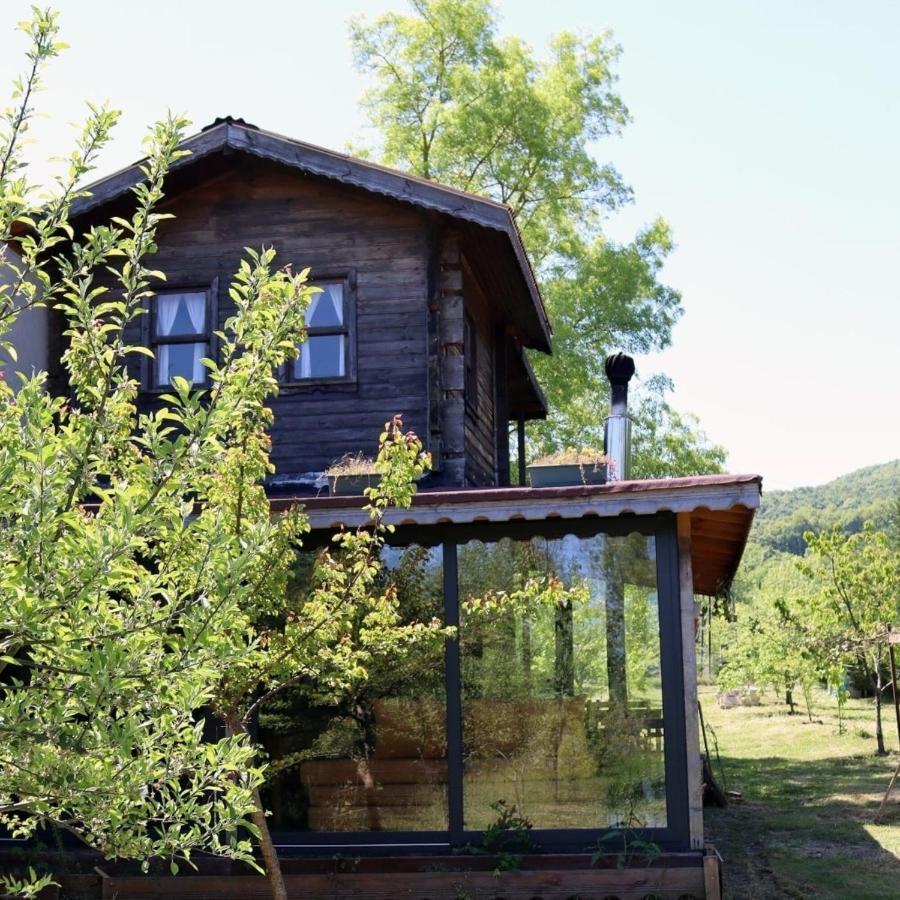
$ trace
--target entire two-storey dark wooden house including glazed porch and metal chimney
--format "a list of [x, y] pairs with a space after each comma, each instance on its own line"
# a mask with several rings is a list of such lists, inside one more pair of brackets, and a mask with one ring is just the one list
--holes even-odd
[[[389, 513], [383, 561], [402, 608], [457, 637], [376, 661], [346, 701], [298, 689], [260, 715], [292, 896], [718, 897], [694, 598], [727, 590], [761, 479], [627, 480], [633, 364], [613, 361], [608, 449], [626, 478], [525, 486], [508, 436], [546, 414], [524, 351], [549, 352], [551, 332], [505, 206], [230, 118], [185, 148], [155, 260], [168, 282], [131, 336], [155, 354], [134, 364], [141, 402], [172, 374], [202, 384], [243, 248], [274, 245], [322, 293], [273, 401], [273, 509], [305, 507], [310, 552], [362, 524], [362, 498], [322, 493], [321, 475], [396, 413], [436, 464]], [[76, 225], [126, 212], [140, 177], [93, 185]], [[492, 616], [480, 601], [500, 593], [516, 603]], [[490, 835], [494, 851], [518, 837], [521, 872], [492, 873]], [[454, 855], [466, 848], [485, 852]], [[265, 896], [249, 876], [101, 875], [103, 896]]]

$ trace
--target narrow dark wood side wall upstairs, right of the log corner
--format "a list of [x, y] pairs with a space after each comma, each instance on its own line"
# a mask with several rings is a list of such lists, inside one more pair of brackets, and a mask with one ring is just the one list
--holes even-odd
[[497, 483], [494, 417], [494, 319], [491, 307], [468, 266], [463, 267], [465, 311], [474, 325], [476, 396], [466, 398], [466, 482]]

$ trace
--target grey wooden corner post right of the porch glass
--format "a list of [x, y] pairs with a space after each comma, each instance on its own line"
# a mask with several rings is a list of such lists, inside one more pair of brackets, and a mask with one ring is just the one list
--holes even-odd
[[[685, 752], [687, 759], [688, 824], [693, 850], [703, 849], [703, 779], [697, 699], [697, 650], [694, 627], [694, 575], [691, 568], [691, 516], [678, 513], [678, 582], [681, 596], [681, 653], [684, 672]], [[718, 860], [716, 860], [718, 871]]]

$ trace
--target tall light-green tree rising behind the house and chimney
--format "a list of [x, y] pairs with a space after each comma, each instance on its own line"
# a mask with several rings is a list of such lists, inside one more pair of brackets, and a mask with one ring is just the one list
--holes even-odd
[[[522, 231], [554, 323], [554, 355], [534, 359], [550, 417], [541, 449], [596, 445], [608, 393], [603, 359], [671, 342], [681, 297], [659, 274], [672, 251], [656, 220], [627, 244], [604, 219], [631, 189], [594, 144], [629, 121], [616, 92], [621, 49], [609, 32], [550, 41], [546, 58], [500, 38], [488, 0], [412, 0], [412, 14], [351, 25], [357, 66], [371, 76], [363, 107], [370, 148], [389, 165], [506, 203]], [[724, 460], [648, 379], [637, 410], [639, 475], [718, 471]], [[665, 435], [663, 434], [665, 432]]]

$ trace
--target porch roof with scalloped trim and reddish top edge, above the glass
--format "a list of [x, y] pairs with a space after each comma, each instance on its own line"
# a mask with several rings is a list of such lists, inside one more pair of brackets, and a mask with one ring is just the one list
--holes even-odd
[[[702, 475], [561, 488], [423, 490], [409, 509], [389, 510], [398, 526], [440, 526], [547, 519], [604, 519], [687, 513], [694, 592], [721, 594], [737, 572], [759, 506], [759, 475]], [[361, 497], [273, 497], [273, 511], [302, 505], [316, 531], [364, 525]]]

